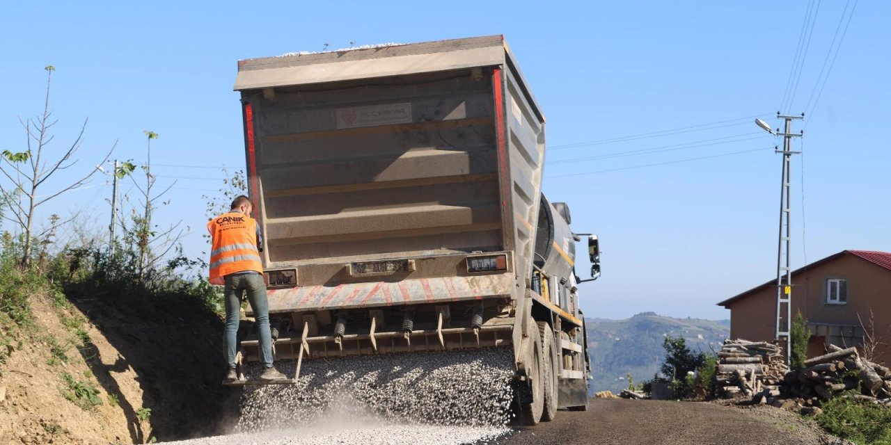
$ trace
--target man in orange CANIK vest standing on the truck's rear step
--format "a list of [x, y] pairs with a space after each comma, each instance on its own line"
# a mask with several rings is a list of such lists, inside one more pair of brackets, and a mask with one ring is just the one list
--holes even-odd
[[269, 329], [269, 303], [266, 301], [266, 283], [257, 247], [257, 221], [250, 217], [254, 206], [244, 195], [232, 201], [228, 213], [208, 222], [212, 240], [210, 251], [210, 284], [225, 286], [225, 360], [229, 366], [226, 381], [238, 380], [235, 371], [236, 335], [241, 312], [241, 301], [247, 291], [248, 302], [254, 310], [257, 335], [260, 344], [260, 361], [263, 362], [261, 380], [281, 380], [285, 377], [273, 367], [272, 335]]

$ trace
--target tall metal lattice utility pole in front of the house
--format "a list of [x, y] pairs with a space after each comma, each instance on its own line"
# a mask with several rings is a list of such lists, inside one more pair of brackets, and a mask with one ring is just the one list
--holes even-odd
[[[791, 194], [792, 194], [792, 155], [800, 154], [801, 151], [792, 151], [792, 138], [800, 137], [805, 134], [804, 131], [793, 134], [792, 120], [804, 119], [805, 113], [801, 116], [781, 116], [777, 112], [777, 118], [786, 122], [783, 133], [778, 136], [783, 137], [782, 150], [774, 150], [776, 153], [782, 153], [782, 182], [780, 191], [780, 237], [777, 247], [777, 317], [776, 317], [776, 337], [786, 338], [786, 364], [789, 365], [792, 357], [792, 342], [789, 337], [789, 330], [792, 324], [792, 269], [790, 246], [792, 239], [792, 224], [789, 216], [791, 214]], [[773, 132], [771, 132], [773, 133]], [[784, 317], [785, 315], [785, 317]]]

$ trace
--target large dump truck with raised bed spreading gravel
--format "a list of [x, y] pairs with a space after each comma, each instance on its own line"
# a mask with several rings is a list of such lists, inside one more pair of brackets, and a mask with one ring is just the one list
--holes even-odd
[[585, 409], [598, 239], [542, 194], [544, 114], [503, 36], [243, 60], [234, 89], [276, 360], [511, 348], [523, 423]]

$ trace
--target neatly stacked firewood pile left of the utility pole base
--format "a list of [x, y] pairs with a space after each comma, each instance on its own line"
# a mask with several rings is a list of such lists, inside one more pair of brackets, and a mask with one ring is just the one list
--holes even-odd
[[768, 342], [725, 340], [717, 352], [717, 395], [725, 399], [777, 396], [789, 368], [782, 348]]

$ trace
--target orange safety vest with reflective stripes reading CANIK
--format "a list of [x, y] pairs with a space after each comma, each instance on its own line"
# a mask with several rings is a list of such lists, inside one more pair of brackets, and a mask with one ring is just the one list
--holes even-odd
[[224, 284], [224, 277], [241, 271], [263, 273], [257, 251], [257, 221], [246, 214], [229, 212], [208, 222], [210, 284]]

